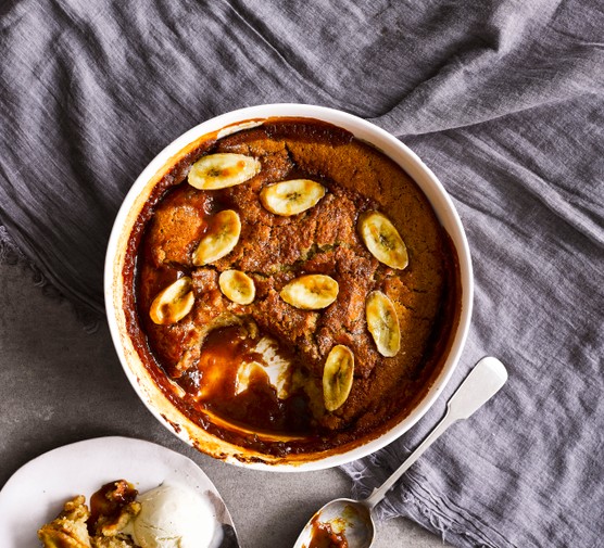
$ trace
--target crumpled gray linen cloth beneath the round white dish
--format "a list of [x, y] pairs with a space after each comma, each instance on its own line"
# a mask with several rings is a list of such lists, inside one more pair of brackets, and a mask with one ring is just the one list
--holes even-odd
[[[0, 221], [54, 286], [102, 313], [119, 203], [181, 132], [268, 102], [373, 120], [431, 167], [468, 234], [475, 315], [444, 396], [486, 354], [509, 371], [380, 514], [456, 546], [604, 546], [603, 29], [597, 0], [4, 0]], [[344, 467], [356, 495], [444, 396]]]

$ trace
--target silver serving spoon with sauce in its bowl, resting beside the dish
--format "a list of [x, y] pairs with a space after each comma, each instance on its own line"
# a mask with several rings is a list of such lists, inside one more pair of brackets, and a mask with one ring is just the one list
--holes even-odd
[[[490, 356], [482, 358], [449, 399], [442, 420], [397, 471], [380, 487], [375, 488], [365, 500], [338, 498], [325, 505], [302, 530], [293, 548], [320, 546], [369, 548], [375, 537], [375, 523], [372, 517], [374, 508], [451, 424], [474, 415], [499, 392], [506, 380], [507, 371], [499, 359]], [[320, 544], [319, 538], [324, 544]], [[348, 545], [343, 543], [344, 538]]]

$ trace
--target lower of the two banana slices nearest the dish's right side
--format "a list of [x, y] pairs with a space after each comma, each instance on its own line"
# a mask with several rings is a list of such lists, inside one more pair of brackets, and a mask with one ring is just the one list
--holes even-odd
[[388, 295], [381, 291], [369, 293], [365, 301], [365, 317], [378, 352], [388, 358], [395, 356], [401, 348], [401, 328]]

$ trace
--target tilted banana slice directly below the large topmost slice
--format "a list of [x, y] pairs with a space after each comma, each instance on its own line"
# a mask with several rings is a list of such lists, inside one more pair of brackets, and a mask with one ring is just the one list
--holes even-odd
[[212, 218], [207, 232], [193, 252], [193, 265], [214, 263], [228, 255], [239, 241], [241, 220], [237, 212], [224, 209]]

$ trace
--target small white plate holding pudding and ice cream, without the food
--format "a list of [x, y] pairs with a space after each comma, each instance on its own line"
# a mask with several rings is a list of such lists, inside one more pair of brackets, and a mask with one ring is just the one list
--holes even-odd
[[37, 531], [75, 495], [90, 495], [113, 480], [139, 493], [162, 483], [199, 493], [214, 509], [215, 534], [207, 548], [238, 548], [228, 510], [203, 471], [189, 458], [160, 445], [128, 437], [99, 437], [59, 447], [17, 470], [0, 492], [2, 548], [39, 548]]

